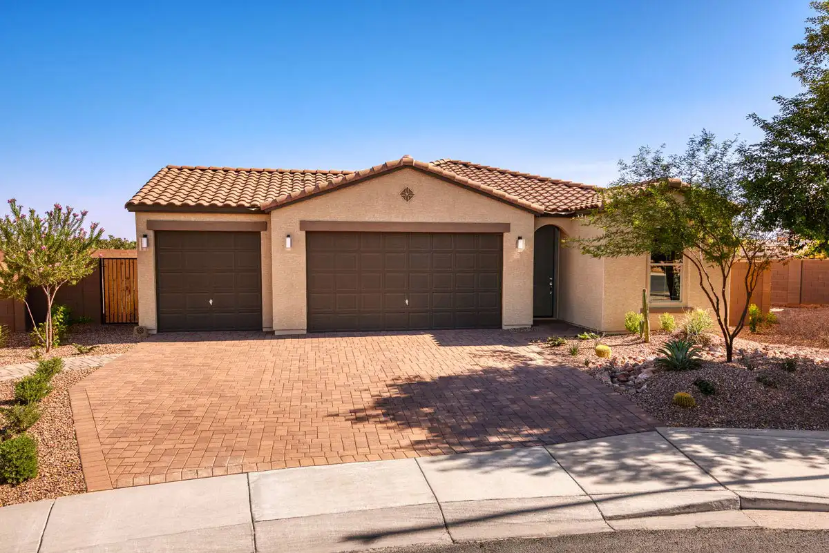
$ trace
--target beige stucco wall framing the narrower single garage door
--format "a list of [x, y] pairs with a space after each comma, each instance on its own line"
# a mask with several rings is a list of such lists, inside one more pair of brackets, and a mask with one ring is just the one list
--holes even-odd
[[[138, 325], [146, 326], [155, 332], [156, 325], [156, 290], [155, 290], [155, 237], [148, 230], [147, 221], [268, 221], [264, 214], [184, 214], [137, 212], [135, 214], [135, 233], [138, 244], [143, 234], [147, 234], [148, 248], [138, 248]], [[268, 225], [270, 227], [270, 225]], [[273, 326], [273, 294], [271, 288], [271, 245], [270, 228], [262, 235], [262, 328], [271, 330]]]

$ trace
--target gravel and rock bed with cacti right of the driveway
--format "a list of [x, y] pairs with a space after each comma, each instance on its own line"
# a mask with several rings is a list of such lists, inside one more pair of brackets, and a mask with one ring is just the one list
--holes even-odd
[[[667, 426], [829, 430], [829, 349], [754, 341], [761, 336], [788, 336], [794, 341], [794, 332], [779, 328], [784, 321], [818, 315], [818, 310], [807, 315], [793, 311], [786, 319], [778, 315], [781, 323], [764, 334], [747, 330], [741, 334], [744, 339], [735, 341], [733, 363], [725, 363], [722, 339], [711, 334], [700, 368], [689, 371], [663, 371], [653, 362], [657, 349], [676, 333], [656, 332], [650, 344], [635, 334], [607, 336], [602, 343], [612, 349], [609, 359], [596, 356], [593, 340], [567, 339], [560, 346], [545, 346], [545, 352], [630, 397]], [[805, 333], [797, 341], [807, 343]], [[576, 344], [579, 352], [573, 356], [569, 350]], [[705, 395], [695, 385], [700, 378], [714, 386], [713, 395]], [[696, 406], [673, 405], [677, 392], [690, 393]]]

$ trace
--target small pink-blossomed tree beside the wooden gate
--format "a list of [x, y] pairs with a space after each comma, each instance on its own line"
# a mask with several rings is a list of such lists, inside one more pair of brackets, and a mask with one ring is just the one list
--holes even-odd
[[[75, 284], [95, 268], [92, 252], [97, 248], [103, 228], [97, 223], [84, 228], [86, 212], [55, 204], [41, 217], [34, 209], [28, 213], [8, 200], [11, 214], [0, 219], [0, 297], [13, 298], [26, 305], [32, 325], [49, 352], [54, 339], [51, 308], [57, 291], [67, 282]], [[37, 328], [27, 291], [40, 288], [46, 296], [46, 325]]]

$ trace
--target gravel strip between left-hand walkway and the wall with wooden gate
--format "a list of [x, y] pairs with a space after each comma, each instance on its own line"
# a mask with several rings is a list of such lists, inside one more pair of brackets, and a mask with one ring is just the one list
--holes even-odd
[[[52, 349], [47, 357], [68, 358], [78, 355], [72, 344], [98, 346], [85, 355], [125, 353], [137, 344], [133, 336], [134, 325], [72, 325], [67, 344]], [[28, 363], [34, 359], [34, 350], [29, 335], [22, 332], [9, 334], [6, 346], [0, 348], [0, 367]]]

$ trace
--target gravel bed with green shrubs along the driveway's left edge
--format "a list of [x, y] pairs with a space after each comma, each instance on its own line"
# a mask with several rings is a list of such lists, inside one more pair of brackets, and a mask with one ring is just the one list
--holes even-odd
[[[0, 506], [86, 491], [69, 403], [69, 388], [95, 370], [97, 368], [65, 371], [52, 379], [52, 392], [40, 404], [41, 419], [27, 430], [27, 434], [37, 440], [38, 476], [17, 486], [0, 485]], [[15, 382], [0, 382], [0, 402], [3, 406], [12, 404]]]

